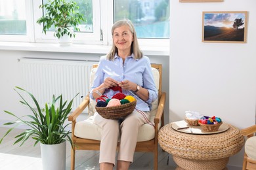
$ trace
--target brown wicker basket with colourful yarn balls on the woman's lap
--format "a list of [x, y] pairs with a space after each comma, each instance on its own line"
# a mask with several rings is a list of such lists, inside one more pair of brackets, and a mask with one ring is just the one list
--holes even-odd
[[[120, 97], [120, 95], [118, 96]], [[108, 99], [108, 105], [106, 107], [95, 107], [96, 111], [100, 116], [106, 119], [119, 119], [119, 118], [124, 118], [125, 116], [128, 116], [133, 112], [133, 110], [136, 107], [137, 100], [134, 97], [131, 96], [126, 96], [125, 99], [129, 101], [129, 103], [122, 103], [119, 102], [120, 98], [113, 98]], [[110, 102], [112, 102], [112, 105], [109, 105]], [[116, 105], [116, 101], [119, 103], [122, 103], [121, 105]], [[122, 100], [120, 100], [122, 101]]]

